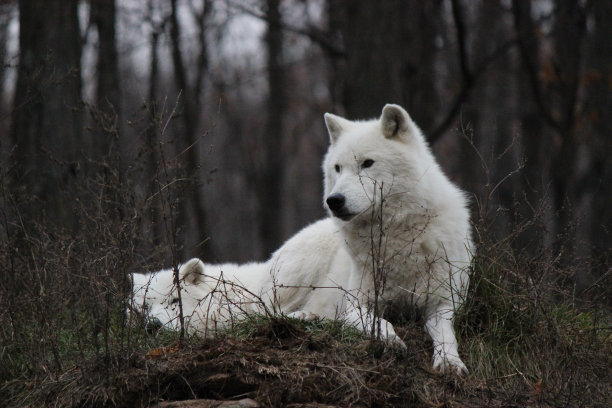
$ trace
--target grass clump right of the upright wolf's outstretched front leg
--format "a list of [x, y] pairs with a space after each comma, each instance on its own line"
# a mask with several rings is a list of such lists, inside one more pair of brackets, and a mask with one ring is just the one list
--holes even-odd
[[520, 267], [500, 264], [477, 260], [457, 316], [472, 378], [508, 392], [543, 384], [559, 401], [585, 390], [586, 405], [591, 397], [593, 406], [609, 400], [612, 313], [599, 304], [578, 306], [567, 286], [546, 277], [536, 284]]

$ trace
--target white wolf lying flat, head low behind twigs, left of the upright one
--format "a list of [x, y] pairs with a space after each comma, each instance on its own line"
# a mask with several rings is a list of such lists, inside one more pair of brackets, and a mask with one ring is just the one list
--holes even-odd
[[[354, 306], [361, 293], [348, 288], [351, 268], [331, 218], [299, 231], [267, 262], [205, 264], [191, 259], [178, 270], [185, 327], [191, 333], [207, 335], [248, 313], [280, 312], [302, 319], [342, 319], [368, 331], [372, 316]], [[173, 270], [133, 273], [131, 279], [128, 311], [178, 329], [179, 295]], [[383, 338], [405, 348], [393, 326], [380, 320]]]

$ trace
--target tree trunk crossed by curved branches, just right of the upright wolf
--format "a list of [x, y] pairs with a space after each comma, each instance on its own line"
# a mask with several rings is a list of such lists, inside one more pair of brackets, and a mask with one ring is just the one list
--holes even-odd
[[[509, 37], [507, 21], [501, 13], [498, 1], [485, 1], [475, 8], [475, 16], [467, 13], [467, 7], [461, 7], [459, 2], [453, 2], [453, 15], [459, 43], [457, 45], [458, 60], [466, 60], [457, 64], [457, 69], [463, 71], [461, 76], [471, 76], [472, 66], [489, 58], [493, 50]], [[472, 46], [466, 42], [468, 27], [474, 31]], [[462, 32], [459, 34], [459, 32]], [[463, 51], [461, 51], [463, 48]], [[467, 50], [471, 48], [471, 58], [467, 60]], [[465, 55], [462, 56], [462, 54]], [[501, 57], [496, 64], [492, 64], [500, 77], [511, 78], [511, 63], [507, 55]], [[467, 72], [467, 74], [466, 74]], [[509, 211], [503, 211], [512, 206], [512, 179], [506, 179], [490, 196], [490, 190], [498, 181], [506, 178], [516, 168], [516, 161], [511, 154], [512, 148], [512, 83], [510, 80], [503, 83], [479, 81], [468, 102], [462, 108], [463, 140], [459, 140], [458, 173], [462, 176], [462, 186], [467, 191], [476, 193], [479, 197], [479, 216], [487, 216], [487, 225], [491, 228], [488, 235], [506, 236], [508, 234]], [[494, 103], [491, 103], [493, 102]], [[465, 140], [467, 138], [467, 140]], [[505, 154], [502, 154], [505, 151]], [[499, 157], [499, 156], [502, 157]], [[483, 161], [485, 163], [483, 163]], [[488, 179], [487, 179], [488, 178]], [[487, 182], [490, 183], [487, 185]], [[484, 221], [484, 220], [482, 220]]]

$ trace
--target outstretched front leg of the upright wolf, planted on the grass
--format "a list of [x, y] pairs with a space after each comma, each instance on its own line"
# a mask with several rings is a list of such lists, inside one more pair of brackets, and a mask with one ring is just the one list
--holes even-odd
[[455, 372], [460, 376], [467, 376], [469, 371], [461, 361], [457, 350], [452, 306], [439, 306], [427, 316], [425, 330], [433, 340], [433, 368], [441, 372]]

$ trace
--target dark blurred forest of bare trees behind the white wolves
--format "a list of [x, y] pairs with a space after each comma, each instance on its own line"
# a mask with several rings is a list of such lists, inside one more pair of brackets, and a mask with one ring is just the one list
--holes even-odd
[[143, 257], [264, 259], [325, 216], [323, 113], [398, 103], [486, 234], [588, 293], [611, 273], [611, 21], [605, 0], [2, 1], [3, 241], [92, 228], [96, 191]]

